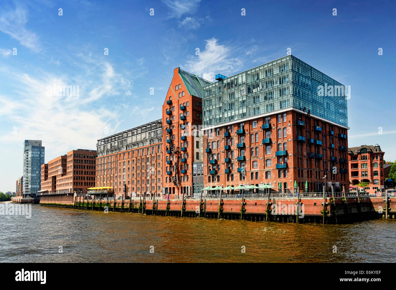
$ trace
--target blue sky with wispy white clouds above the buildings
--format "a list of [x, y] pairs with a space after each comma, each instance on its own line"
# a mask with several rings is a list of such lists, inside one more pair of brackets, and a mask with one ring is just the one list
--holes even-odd
[[[2, 1], [0, 191], [15, 191], [23, 140], [43, 140], [46, 162], [95, 149], [98, 138], [161, 118], [179, 64], [214, 80], [283, 57], [288, 47], [351, 86], [348, 145], [378, 143], [395, 160], [395, 4], [322, 2]], [[54, 83], [78, 85], [79, 97], [48, 95]]]

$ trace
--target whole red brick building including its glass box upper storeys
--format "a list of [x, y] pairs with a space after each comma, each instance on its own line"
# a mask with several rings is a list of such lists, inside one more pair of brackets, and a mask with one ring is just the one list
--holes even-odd
[[345, 95], [318, 93], [341, 83], [291, 55], [216, 80], [202, 88], [205, 186], [313, 192], [326, 175], [326, 190], [348, 191]]

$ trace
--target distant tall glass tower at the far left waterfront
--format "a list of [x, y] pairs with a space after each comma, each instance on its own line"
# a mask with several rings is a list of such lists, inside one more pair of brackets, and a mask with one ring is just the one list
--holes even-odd
[[41, 140], [23, 143], [23, 197], [35, 197], [41, 188], [41, 165], [44, 164], [44, 147]]

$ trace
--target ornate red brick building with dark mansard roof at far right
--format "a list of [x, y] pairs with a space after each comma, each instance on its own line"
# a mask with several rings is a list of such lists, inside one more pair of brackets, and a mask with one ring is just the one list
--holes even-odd
[[367, 182], [364, 189], [369, 193], [384, 189], [384, 154], [378, 144], [348, 148], [350, 184]]

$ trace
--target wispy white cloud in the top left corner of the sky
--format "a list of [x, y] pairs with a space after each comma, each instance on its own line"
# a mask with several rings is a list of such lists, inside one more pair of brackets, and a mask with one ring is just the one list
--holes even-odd
[[3, 11], [0, 14], [0, 31], [10, 35], [21, 45], [38, 52], [40, 51], [38, 37], [26, 28], [27, 21], [27, 9], [17, 4], [14, 10]]

